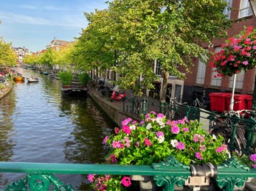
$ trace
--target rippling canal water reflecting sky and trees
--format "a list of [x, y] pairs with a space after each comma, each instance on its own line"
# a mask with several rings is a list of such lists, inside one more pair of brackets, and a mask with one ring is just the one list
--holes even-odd
[[[107, 154], [103, 138], [115, 123], [89, 98], [61, 95], [58, 79], [18, 68], [38, 83], [15, 83], [0, 100], [0, 161], [103, 162]], [[56, 175], [75, 190], [89, 190], [86, 175]], [[24, 177], [1, 173], [0, 189]]]

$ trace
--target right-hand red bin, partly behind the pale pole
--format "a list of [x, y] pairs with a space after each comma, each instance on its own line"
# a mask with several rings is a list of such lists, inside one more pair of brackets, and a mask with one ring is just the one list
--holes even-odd
[[[232, 97], [231, 94], [226, 95], [227, 111], [229, 111], [231, 97]], [[235, 101], [234, 106], [233, 106], [234, 111], [248, 108], [247, 103], [246, 103], [246, 97], [247, 97], [247, 95], [242, 95], [242, 94], [235, 94], [234, 95], [234, 101]]]

